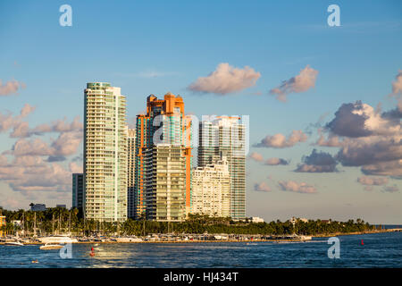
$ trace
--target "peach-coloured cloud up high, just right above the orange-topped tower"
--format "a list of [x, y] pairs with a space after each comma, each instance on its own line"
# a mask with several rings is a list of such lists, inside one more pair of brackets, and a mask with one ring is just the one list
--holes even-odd
[[216, 70], [207, 77], [200, 77], [188, 86], [188, 89], [203, 93], [226, 95], [238, 92], [255, 85], [261, 77], [260, 72], [245, 66], [243, 69], [230, 66], [229, 63], [220, 63]]

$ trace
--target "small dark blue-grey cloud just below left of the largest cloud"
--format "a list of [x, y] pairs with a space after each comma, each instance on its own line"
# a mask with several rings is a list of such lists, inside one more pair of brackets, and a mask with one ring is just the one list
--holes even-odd
[[303, 164], [298, 164], [295, 172], [337, 172], [337, 162], [326, 152], [313, 152], [309, 156], [303, 156]]

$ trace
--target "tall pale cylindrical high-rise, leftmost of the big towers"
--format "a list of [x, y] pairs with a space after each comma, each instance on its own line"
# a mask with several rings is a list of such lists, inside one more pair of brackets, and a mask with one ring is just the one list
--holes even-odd
[[85, 89], [84, 214], [86, 219], [127, 219], [126, 98], [121, 88], [90, 82]]

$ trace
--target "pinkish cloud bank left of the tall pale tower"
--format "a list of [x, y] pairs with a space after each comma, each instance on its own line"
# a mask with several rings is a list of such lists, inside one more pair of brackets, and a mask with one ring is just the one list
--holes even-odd
[[[58, 162], [76, 154], [80, 147], [83, 138], [80, 117], [72, 122], [64, 118], [30, 129], [23, 118], [34, 110], [34, 106], [24, 105], [19, 115], [0, 114], [0, 131], [13, 130], [10, 137], [18, 138], [11, 150], [0, 155], [0, 181], [21, 192], [24, 198], [41, 192], [70, 192], [71, 170], [82, 172], [82, 164], [71, 163], [70, 170], [66, 170]], [[50, 142], [37, 137], [46, 133], [58, 133], [58, 137]], [[13, 156], [11, 161], [9, 156]]]

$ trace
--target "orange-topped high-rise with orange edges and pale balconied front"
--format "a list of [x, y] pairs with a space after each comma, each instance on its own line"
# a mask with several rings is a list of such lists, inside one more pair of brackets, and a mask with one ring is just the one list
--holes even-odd
[[180, 96], [147, 97], [137, 116], [135, 192], [137, 215], [182, 221], [190, 210], [191, 120]]

